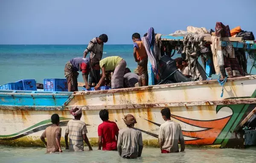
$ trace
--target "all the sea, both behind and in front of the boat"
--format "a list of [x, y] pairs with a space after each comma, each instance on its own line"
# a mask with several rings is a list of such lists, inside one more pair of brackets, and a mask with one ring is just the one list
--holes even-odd
[[[64, 79], [66, 62], [74, 57], [82, 57], [85, 48], [87, 45], [0, 45], [0, 85], [20, 79], [35, 79], [38, 83], [43, 83], [44, 79]], [[107, 56], [122, 57], [131, 71], [137, 67], [133, 45], [104, 45], [103, 58]], [[179, 56], [175, 54], [173, 58]], [[249, 72], [249, 60], [247, 68]], [[256, 69], [252, 74], [256, 74]], [[78, 81], [83, 82], [81, 76]], [[99, 151], [96, 148], [84, 152], [68, 152], [65, 149], [63, 153], [45, 152], [45, 148], [0, 146], [0, 163], [254, 163], [256, 160], [256, 147], [187, 148], [185, 152], [173, 154], [161, 154], [157, 148], [144, 148], [142, 157], [137, 159], [123, 159], [117, 152]]]

